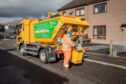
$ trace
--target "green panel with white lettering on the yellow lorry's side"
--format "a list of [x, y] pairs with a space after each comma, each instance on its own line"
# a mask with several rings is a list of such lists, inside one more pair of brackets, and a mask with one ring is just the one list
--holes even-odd
[[36, 24], [34, 26], [35, 38], [51, 38], [57, 25], [58, 20]]

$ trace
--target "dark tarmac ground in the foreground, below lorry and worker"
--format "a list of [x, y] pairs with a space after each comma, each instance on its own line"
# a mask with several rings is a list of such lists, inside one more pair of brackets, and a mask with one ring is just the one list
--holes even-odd
[[0, 40], [0, 84], [126, 84], [126, 69], [112, 64], [126, 67], [126, 59], [87, 54], [82, 65], [65, 73], [62, 61], [42, 64], [21, 56], [15, 40]]

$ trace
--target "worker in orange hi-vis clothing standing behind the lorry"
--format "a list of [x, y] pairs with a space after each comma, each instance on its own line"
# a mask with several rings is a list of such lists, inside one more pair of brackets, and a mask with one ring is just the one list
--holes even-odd
[[70, 38], [71, 32], [65, 32], [65, 35], [62, 38], [62, 51], [64, 54], [64, 69], [65, 71], [69, 71], [69, 62], [72, 55], [72, 47], [74, 46], [73, 41]]

